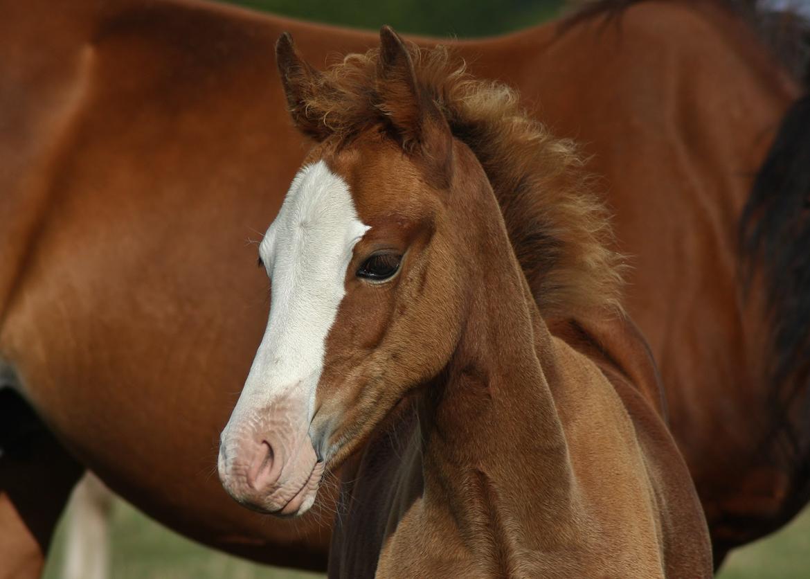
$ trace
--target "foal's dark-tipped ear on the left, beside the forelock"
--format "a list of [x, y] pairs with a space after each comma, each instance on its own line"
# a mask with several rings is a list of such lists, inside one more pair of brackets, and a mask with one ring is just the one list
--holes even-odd
[[281, 86], [287, 97], [287, 109], [292, 123], [303, 134], [320, 142], [329, 136], [329, 130], [322, 119], [307, 113], [307, 101], [317, 90], [321, 73], [301, 59], [292, 36], [284, 32], [275, 43], [275, 63], [279, 67]]

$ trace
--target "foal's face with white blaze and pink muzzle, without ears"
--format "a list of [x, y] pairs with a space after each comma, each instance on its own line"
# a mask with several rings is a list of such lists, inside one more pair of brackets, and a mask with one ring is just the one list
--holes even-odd
[[220, 479], [254, 509], [300, 514], [458, 341], [461, 278], [445, 191], [376, 131], [324, 144], [260, 245], [271, 312], [222, 435]]

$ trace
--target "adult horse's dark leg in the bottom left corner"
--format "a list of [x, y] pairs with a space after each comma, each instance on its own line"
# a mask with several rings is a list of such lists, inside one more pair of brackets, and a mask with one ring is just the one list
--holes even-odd
[[0, 387], [0, 579], [40, 577], [82, 472], [23, 398]]

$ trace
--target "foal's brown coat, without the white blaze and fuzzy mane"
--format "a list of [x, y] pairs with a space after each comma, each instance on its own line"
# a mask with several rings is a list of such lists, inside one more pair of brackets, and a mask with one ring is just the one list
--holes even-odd
[[[402, 80], [422, 78], [423, 61], [389, 29], [381, 53], [377, 76], [355, 77], [364, 86], [351, 92], [386, 94], [395, 134], [357, 117], [361, 129], [345, 126], [307, 159], [347, 181], [370, 227], [347, 267], [310, 426], [327, 468], [360, 453], [343, 470], [330, 577], [710, 577], [706, 522], [643, 338], [625, 317], [606, 320], [603, 303], [577, 304], [576, 330], [551, 333], [475, 151], [445, 146], [453, 123], [435, 117], [424, 85]], [[320, 93], [285, 88], [293, 102]], [[492, 158], [512, 151], [498, 143]], [[552, 143], [537, 155], [550, 158], [535, 170], [559, 159]], [[449, 178], [426, 173], [437, 167]], [[587, 221], [565, 226], [590, 233]], [[356, 277], [380, 247], [403, 256], [399, 272]]]

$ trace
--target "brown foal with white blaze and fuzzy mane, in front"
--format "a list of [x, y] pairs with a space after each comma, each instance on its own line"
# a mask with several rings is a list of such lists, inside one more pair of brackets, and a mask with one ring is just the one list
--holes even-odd
[[326, 73], [279, 40], [316, 145], [259, 249], [270, 320], [224, 487], [296, 515], [343, 465], [330, 577], [710, 577], [571, 147], [441, 49], [381, 40]]

